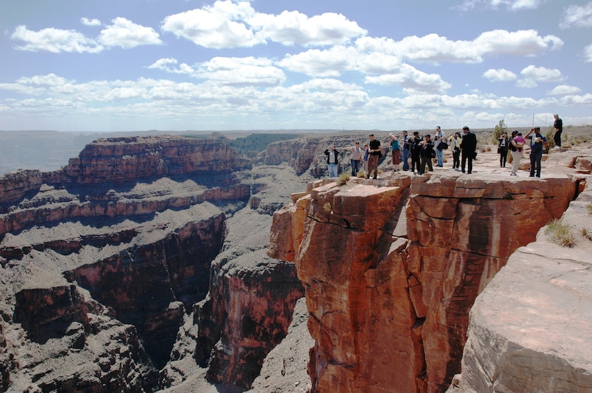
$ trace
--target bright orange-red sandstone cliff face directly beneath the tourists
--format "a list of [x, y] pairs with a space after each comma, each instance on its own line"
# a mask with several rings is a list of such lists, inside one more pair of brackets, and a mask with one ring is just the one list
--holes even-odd
[[313, 392], [446, 390], [474, 299], [575, 190], [563, 176], [394, 175], [276, 213], [270, 255], [294, 255], [306, 289]]

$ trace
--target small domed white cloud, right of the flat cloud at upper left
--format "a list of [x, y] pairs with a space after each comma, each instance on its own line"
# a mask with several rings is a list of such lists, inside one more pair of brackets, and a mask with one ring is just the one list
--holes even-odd
[[116, 17], [103, 29], [98, 40], [106, 47], [129, 49], [140, 45], [162, 44], [159, 35], [151, 27], [135, 24], [124, 17]]

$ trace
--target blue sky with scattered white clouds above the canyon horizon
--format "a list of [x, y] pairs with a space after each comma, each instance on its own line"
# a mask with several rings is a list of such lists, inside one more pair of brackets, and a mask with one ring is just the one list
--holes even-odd
[[0, 0], [0, 130], [592, 124], [592, 1]]

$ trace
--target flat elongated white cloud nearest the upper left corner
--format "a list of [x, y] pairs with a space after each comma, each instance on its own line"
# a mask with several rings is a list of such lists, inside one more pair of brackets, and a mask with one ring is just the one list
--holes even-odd
[[22, 51], [98, 53], [103, 50], [95, 40], [86, 38], [75, 30], [47, 28], [31, 31], [26, 26], [17, 26], [10, 38], [25, 42], [16, 47]]

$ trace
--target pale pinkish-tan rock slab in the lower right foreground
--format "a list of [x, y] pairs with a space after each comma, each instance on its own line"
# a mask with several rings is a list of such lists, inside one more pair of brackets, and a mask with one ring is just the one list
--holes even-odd
[[[576, 244], [551, 243], [546, 227], [519, 248], [476, 298], [450, 392], [592, 391], [592, 184], [561, 219]], [[543, 252], [544, 250], [544, 252]]]

